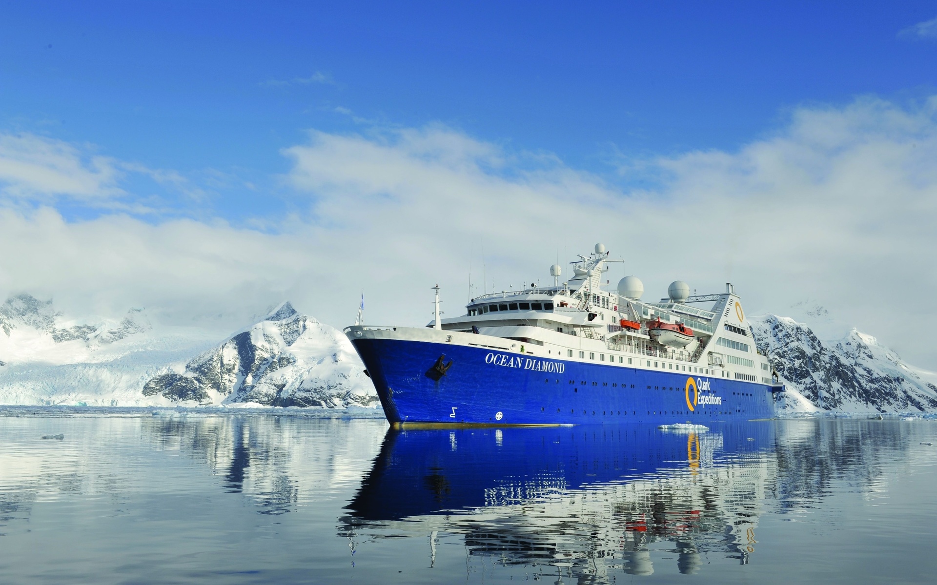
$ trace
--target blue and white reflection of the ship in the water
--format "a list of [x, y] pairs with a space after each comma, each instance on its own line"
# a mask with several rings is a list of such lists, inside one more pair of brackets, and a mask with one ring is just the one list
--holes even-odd
[[[388, 431], [340, 530], [462, 534], [469, 558], [560, 576], [693, 574], [707, 553], [748, 563], [775, 475], [771, 422]], [[662, 561], [658, 561], [661, 563]]]

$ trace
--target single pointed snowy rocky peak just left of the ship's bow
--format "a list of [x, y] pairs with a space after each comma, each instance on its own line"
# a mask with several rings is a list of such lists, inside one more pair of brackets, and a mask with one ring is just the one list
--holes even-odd
[[142, 393], [199, 404], [341, 407], [378, 402], [348, 339], [297, 313], [289, 302], [216, 348], [155, 376]]

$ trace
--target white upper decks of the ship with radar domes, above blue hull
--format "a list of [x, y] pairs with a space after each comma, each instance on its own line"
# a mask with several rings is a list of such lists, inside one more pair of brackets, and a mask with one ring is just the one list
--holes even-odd
[[[644, 285], [635, 276], [621, 279], [614, 290], [602, 288], [608, 263], [617, 261], [608, 256], [596, 244], [592, 254], [573, 262], [573, 278], [567, 282], [558, 282], [560, 267], [554, 265], [553, 286], [485, 294], [468, 303], [466, 314], [441, 320], [437, 314], [429, 327], [479, 334], [454, 336], [449, 342], [456, 344], [772, 383], [767, 358], [755, 347], [732, 284], [723, 293], [691, 296], [689, 285], [675, 281], [668, 298], [646, 302], [641, 300]], [[649, 323], [657, 329], [649, 331]], [[678, 324], [692, 329], [692, 338], [661, 329]]]

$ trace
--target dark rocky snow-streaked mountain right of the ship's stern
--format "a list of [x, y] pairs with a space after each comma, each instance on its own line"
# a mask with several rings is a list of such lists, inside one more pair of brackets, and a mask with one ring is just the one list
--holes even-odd
[[809, 326], [774, 314], [750, 317], [758, 349], [787, 385], [791, 411], [937, 411], [937, 375], [904, 362], [874, 337], [852, 329], [823, 342]]

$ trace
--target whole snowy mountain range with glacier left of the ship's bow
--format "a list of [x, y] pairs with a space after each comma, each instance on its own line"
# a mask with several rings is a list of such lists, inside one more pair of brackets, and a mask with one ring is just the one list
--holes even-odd
[[11, 297], [0, 305], [0, 403], [377, 405], [345, 336], [289, 303], [217, 340], [196, 328], [154, 328], [141, 309], [82, 323], [51, 300]]

